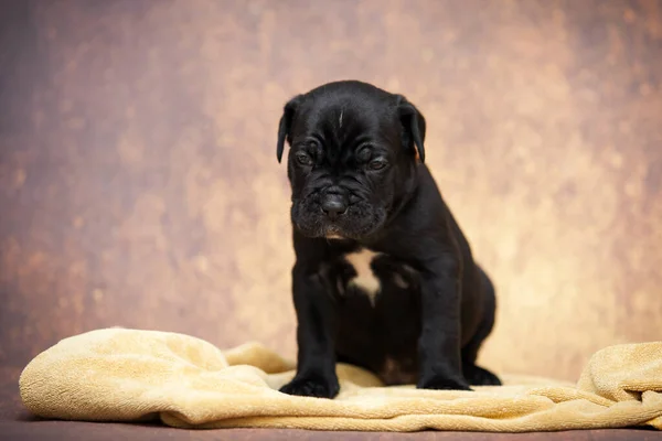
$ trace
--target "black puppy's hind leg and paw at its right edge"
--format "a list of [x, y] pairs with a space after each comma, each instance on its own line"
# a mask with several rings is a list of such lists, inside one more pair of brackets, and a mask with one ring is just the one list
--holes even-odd
[[473, 337], [462, 347], [462, 373], [471, 386], [501, 386], [501, 380], [490, 370], [476, 364], [478, 351], [494, 326], [496, 300], [492, 282], [479, 267], [485, 295], [484, 318]]

